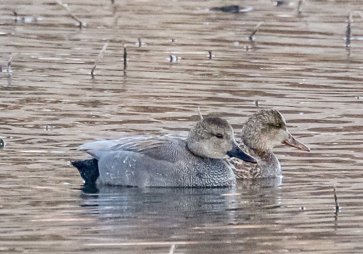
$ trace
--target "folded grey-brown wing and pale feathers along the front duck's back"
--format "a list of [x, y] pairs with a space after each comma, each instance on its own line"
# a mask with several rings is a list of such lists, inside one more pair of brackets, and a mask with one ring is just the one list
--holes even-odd
[[134, 136], [91, 142], [80, 146], [79, 149], [97, 159], [110, 152], [130, 151], [155, 160], [175, 162], [180, 154], [186, 151], [185, 147], [186, 142], [179, 138]]

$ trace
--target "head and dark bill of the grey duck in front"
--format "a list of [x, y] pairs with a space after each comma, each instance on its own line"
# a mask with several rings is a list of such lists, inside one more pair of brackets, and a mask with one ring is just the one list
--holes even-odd
[[257, 159], [243, 152], [234, 139], [232, 126], [219, 117], [208, 117], [197, 122], [189, 131], [188, 149], [202, 158], [222, 159], [227, 156], [257, 163]]

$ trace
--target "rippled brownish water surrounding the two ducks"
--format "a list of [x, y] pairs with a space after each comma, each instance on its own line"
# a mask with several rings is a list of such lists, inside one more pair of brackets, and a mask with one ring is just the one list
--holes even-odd
[[[65, 1], [79, 30], [53, 1], [0, 0], [0, 253], [169, 253], [173, 244], [174, 253], [363, 253], [356, 13], [350, 56], [344, 40], [346, 15], [361, 1], [306, 0], [302, 17], [296, 3], [267, 0], [242, 1], [252, 9], [240, 14], [208, 12], [217, 1], [115, 1]], [[78, 145], [185, 134], [197, 107], [237, 134], [248, 116], [276, 108], [311, 152], [276, 149], [281, 185], [82, 190], [69, 165], [86, 158]]]

